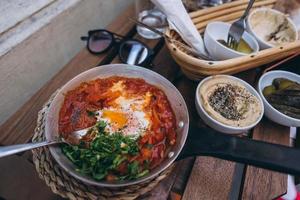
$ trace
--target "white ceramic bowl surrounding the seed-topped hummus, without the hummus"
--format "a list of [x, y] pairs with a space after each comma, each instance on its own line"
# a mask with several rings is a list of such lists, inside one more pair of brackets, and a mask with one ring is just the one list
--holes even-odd
[[[245, 127], [236, 127], [236, 126], [230, 126], [230, 125], [226, 125], [226, 124], [223, 124], [219, 121], [217, 121], [216, 119], [214, 119], [213, 117], [211, 117], [206, 111], [205, 109], [203, 108], [202, 106], [202, 99], [201, 99], [201, 96], [200, 96], [200, 88], [202, 86], [202, 84], [205, 82], [205, 81], [208, 81], [209, 79], [213, 78], [213, 77], [226, 77], [226, 78], [230, 78], [230, 79], [233, 79], [237, 82], [239, 82], [240, 84], [242, 84], [243, 86], [245, 86], [245, 88], [251, 93], [253, 94], [254, 96], [256, 96], [261, 104], [261, 107], [262, 107], [262, 112], [261, 112], [261, 115], [260, 117], [251, 125], [249, 126], [245, 126]], [[229, 133], [229, 134], [238, 134], [238, 133], [244, 133], [246, 132], [247, 130], [253, 128], [255, 125], [258, 124], [258, 122], [262, 119], [263, 117], [263, 113], [264, 113], [264, 106], [263, 106], [263, 102], [262, 102], [262, 99], [260, 98], [259, 94], [256, 92], [256, 90], [251, 86], [249, 85], [247, 82], [239, 79], [239, 78], [236, 78], [234, 76], [229, 76], [229, 75], [216, 75], [216, 76], [209, 76], [205, 79], [203, 79], [197, 89], [196, 89], [196, 99], [195, 99], [195, 104], [196, 104], [196, 109], [197, 109], [197, 112], [198, 114], [200, 115], [201, 119], [208, 125], [210, 126], [211, 128], [219, 131], [219, 132], [222, 132], [222, 133]]]

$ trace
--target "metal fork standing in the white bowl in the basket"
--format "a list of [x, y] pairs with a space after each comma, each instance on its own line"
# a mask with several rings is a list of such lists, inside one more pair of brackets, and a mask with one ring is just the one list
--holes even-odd
[[227, 37], [227, 45], [233, 49], [236, 49], [241, 38], [242, 35], [246, 29], [246, 17], [249, 14], [250, 9], [252, 8], [253, 4], [254, 4], [255, 0], [250, 0], [248, 3], [248, 6], [244, 12], [244, 14], [242, 15], [242, 17], [235, 21], [229, 29], [228, 32], [228, 37]]

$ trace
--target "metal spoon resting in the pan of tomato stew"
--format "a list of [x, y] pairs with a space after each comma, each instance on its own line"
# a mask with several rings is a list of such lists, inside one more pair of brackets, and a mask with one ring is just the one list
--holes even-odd
[[0, 158], [13, 155], [16, 153], [20, 153], [23, 151], [43, 147], [43, 146], [49, 146], [53, 144], [60, 144], [60, 143], [66, 143], [66, 144], [79, 144], [80, 139], [87, 133], [87, 131], [91, 127], [81, 129], [74, 131], [70, 133], [67, 139], [64, 138], [57, 138], [53, 141], [42, 141], [42, 142], [34, 142], [34, 143], [27, 143], [27, 144], [16, 144], [16, 145], [9, 145], [9, 146], [0, 146]]

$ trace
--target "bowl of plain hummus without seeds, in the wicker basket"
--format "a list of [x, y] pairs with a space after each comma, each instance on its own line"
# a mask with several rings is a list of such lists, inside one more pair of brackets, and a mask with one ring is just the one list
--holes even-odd
[[260, 49], [280, 46], [298, 39], [295, 24], [284, 13], [270, 8], [259, 8], [247, 18], [247, 31], [259, 43]]

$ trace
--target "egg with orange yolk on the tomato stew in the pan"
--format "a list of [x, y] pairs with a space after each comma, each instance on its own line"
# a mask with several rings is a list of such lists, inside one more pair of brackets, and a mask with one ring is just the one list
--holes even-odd
[[109, 107], [97, 111], [97, 121], [106, 122], [106, 131], [110, 134], [121, 132], [138, 138], [143, 135], [151, 126], [146, 106], [150, 102], [151, 94], [147, 92], [139, 97], [130, 97], [124, 90], [122, 81], [115, 83], [110, 90], [120, 91], [121, 95]]

